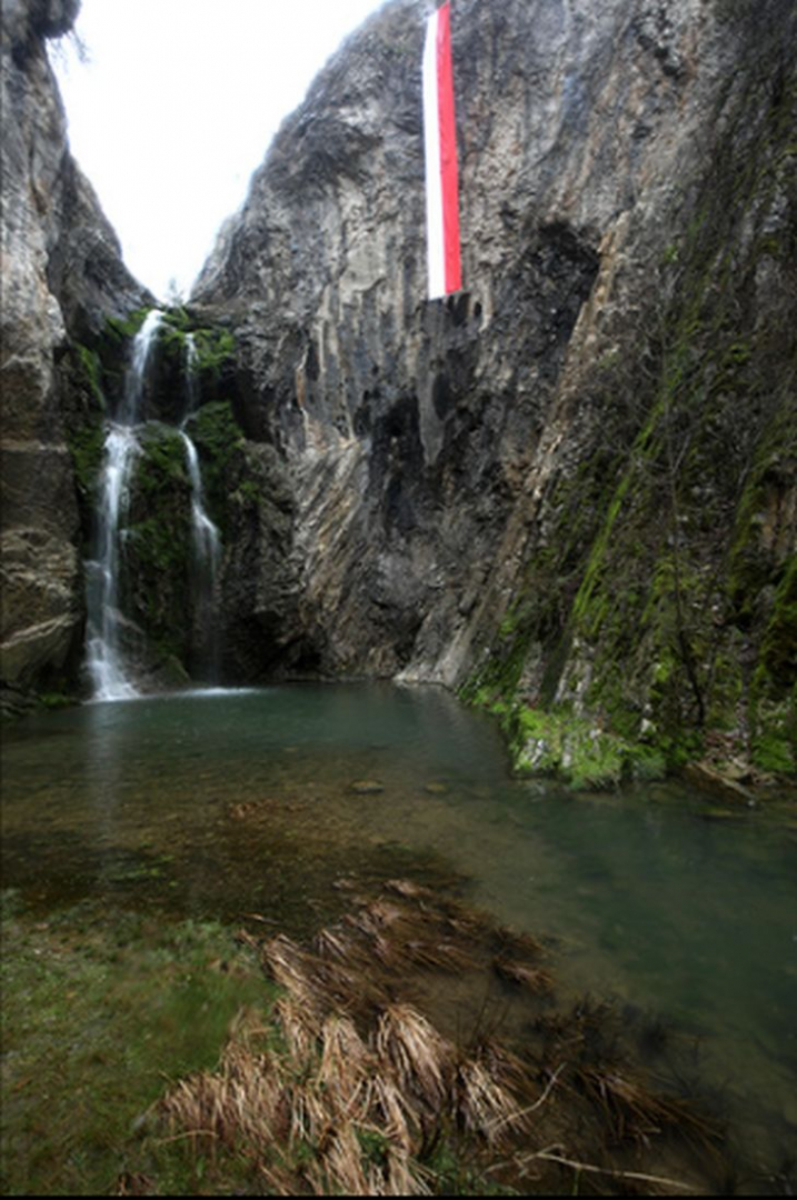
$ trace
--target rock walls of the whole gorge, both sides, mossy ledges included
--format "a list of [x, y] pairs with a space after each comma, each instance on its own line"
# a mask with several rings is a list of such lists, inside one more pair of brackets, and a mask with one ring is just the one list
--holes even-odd
[[[706, 751], [793, 773], [795, 14], [769, 10], [461, 0], [466, 290], [436, 304], [417, 5], [330, 60], [146, 402], [179, 424], [197, 389], [222, 678], [443, 683], [573, 782]], [[4, 34], [11, 709], [80, 686], [98, 430], [152, 304], [68, 157], [43, 44], [73, 12]], [[138, 460], [124, 556], [151, 680], [196, 667], [179, 440]]]

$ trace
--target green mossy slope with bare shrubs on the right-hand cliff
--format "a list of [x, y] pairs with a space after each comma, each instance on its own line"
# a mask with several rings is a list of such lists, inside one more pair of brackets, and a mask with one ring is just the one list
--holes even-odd
[[756, 80], [726, 115], [630, 353], [583, 397], [603, 437], [551, 482], [522, 594], [463, 690], [520, 769], [797, 769], [796, 228], [772, 216], [795, 194], [796, 91]]

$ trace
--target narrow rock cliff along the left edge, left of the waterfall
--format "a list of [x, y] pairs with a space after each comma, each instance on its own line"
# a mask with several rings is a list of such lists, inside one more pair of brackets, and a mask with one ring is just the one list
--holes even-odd
[[44, 42], [78, 0], [2, 5], [2, 629], [13, 706], [73, 671], [83, 626], [78, 506], [62, 409], [68, 352], [145, 300], [70, 156]]

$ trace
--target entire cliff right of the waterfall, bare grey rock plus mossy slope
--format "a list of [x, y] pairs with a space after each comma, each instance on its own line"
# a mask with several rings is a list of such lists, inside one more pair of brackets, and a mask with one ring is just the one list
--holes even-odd
[[793, 6], [457, 0], [465, 290], [433, 304], [424, 12], [330, 61], [196, 288], [262, 497], [229, 670], [469, 680], [527, 760], [557, 709], [598, 739], [721, 708], [749, 744], [793, 587]]

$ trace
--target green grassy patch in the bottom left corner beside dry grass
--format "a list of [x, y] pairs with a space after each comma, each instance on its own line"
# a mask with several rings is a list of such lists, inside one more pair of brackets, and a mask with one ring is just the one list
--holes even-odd
[[211, 922], [88, 904], [43, 920], [14, 893], [2, 948], [4, 1193], [103, 1195], [130, 1170], [194, 1194], [194, 1168], [145, 1115], [164, 1078], [215, 1066], [242, 1004], [270, 1006], [257, 965]]

